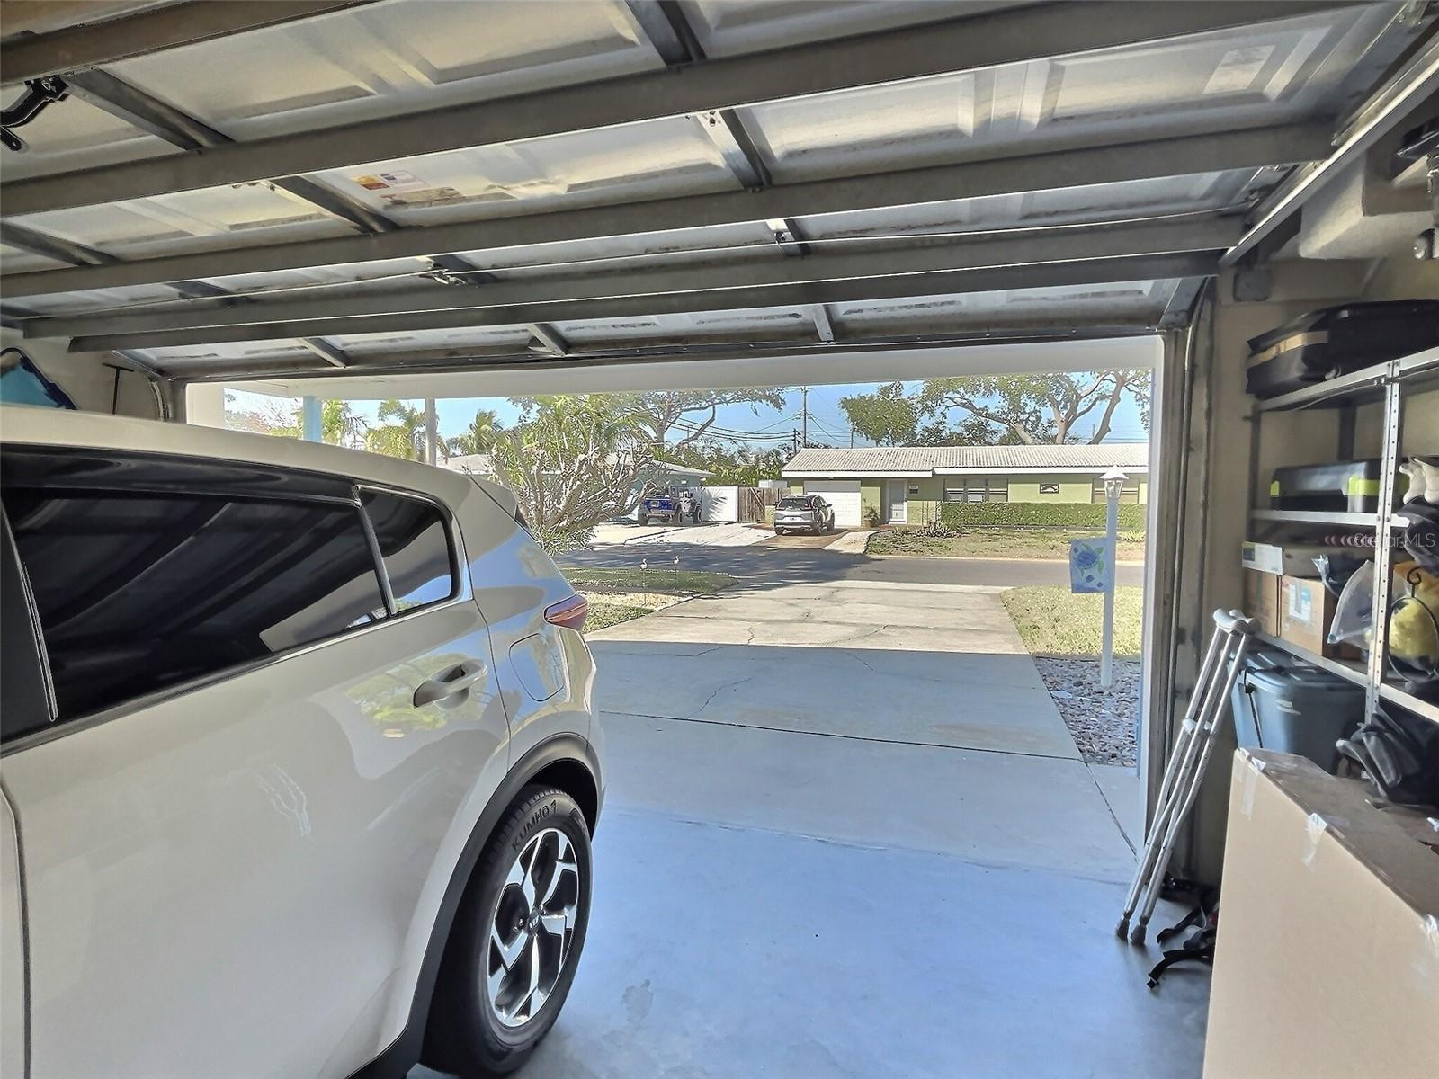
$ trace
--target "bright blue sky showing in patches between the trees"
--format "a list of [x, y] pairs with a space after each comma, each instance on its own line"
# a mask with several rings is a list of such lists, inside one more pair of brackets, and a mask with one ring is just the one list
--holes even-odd
[[[845, 420], [845, 411], [839, 407], [839, 400], [842, 397], [852, 397], [861, 393], [873, 393], [881, 383], [856, 383], [850, 386], [812, 386], [809, 391], [809, 411], [810, 411], [810, 440], [812, 442], [829, 442], [835, 446], [849, 445], [849, 423]], [[905, 388], [911, 393], [918, 390], [920, 383], [905, 383]], [[239, 410], [258, 410], [266, 403], [283, 401], [283, 399], [265, 397], [255, 393], [240, 393], [230, 391], [235, 396], [235, 403], [229, 407]], [[423, 407], [423, 401], [410, 401], [416, 407]], [[291, 407], [296, 407], [299, 400], [289, 401]], [[378, 401], [355, 401], [353, 404], [355, 413], [363, 416], [371, 424], [376, 423], [376, 411], [378, 410]], [[511, 424], [515, 419], [517, 409], [504, 397], [463, 397], [463, 399], [446, 399], [436, 404], [436, 411], [439, 413], [439, 426], [442, 437], [452, 437], [459, 434], [465, 427], [469, 426], [471, 417], [479, 409], [491, 409], [498, 416], [501, 423], [505, 426]], [[1097, 410], [1098, 411], [1098, 410]], [[701, 413], [704, 416], [704, 413]], [[955, 411], [953, 419], [958, 419], [961, 413]], [[1081, 434], [1086, 434], [1091, 427], [1091, 417], [1085, 417], [1081, 426]], [[757, 446], [776, 445], [773, 439], [778, 436], [789, 436], [791, 430], [800, 426], [800, 391], [799, 388], [789, 390], [784, 394], [784, 409], [776, 410], [767, 406], [760, 406], [758, 410], [747, 404], [732, 404], [720, 409], [720, 417], [715, 420], [715, 426], [724, 427], [735, 432], [754, 433], [758, 437], [754, 440]], [[1144, 427], [1140, 424], [1140, 410], [1134, 404], [1134, 400], [1125, 396], [1120, 407], [1114, 413], [1114, 420], [1111, 423], [1109, 437], [1107, 442], [1144, 442], [1145, 440]], [[855, 440], [856, 446], [868, 445], [863, 439]]]

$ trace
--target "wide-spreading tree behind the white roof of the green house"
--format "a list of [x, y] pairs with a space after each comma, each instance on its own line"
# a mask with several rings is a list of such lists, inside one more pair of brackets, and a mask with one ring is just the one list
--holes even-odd
[[[970, 420], [983, 424], [971, 424], [970, 436], [989, 445], [1086, 442], [1092, 446], [1109, 434], [1125, 396], [1138, 403], [1141, 422], [1148, 427], [1148, 371], [931, 378], [917, 407], [940, 419], [954, 409], [968, 413]], [[1082, 423], [1086, 417], [1092, 424]]]

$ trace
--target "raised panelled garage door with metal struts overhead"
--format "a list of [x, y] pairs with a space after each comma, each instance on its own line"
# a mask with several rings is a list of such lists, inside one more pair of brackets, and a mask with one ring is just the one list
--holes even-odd
[[[135, 7], [95, 10], [184, 37]], [[0, 314], [181, 378], [1151, 332], [1433, 45], [1309, 0], [373, 0], [124, 56], [105, 26], [0, 151]], [[46, 40], [0, 40], [6, 78]]]

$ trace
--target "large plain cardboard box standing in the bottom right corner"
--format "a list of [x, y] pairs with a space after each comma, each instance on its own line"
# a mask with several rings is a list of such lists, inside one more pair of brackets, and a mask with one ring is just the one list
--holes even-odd
[[1204, 1079], [1430, 1076], [1439, 857], [1364, 786], [1240, 750]]

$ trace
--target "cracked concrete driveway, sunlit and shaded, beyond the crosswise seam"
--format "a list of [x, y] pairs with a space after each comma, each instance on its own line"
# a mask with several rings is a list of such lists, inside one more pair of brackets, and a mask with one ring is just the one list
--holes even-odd
[[682, 603], [596, 634], [600, 708], [1078, 758], [999, 593], [839, 581]]

